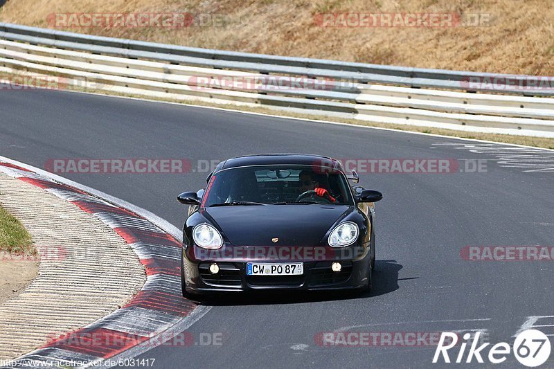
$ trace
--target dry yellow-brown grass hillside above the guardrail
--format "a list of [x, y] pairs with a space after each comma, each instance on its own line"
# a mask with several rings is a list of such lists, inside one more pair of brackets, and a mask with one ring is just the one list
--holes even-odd
[[[0, 20], [52, 28], [56, 13], [75, 12], [187, 12], [195, 18], [184, 28], [55, 27], [252, 53], [554, 75], [552, 0], [8, 0]], [[322, 13], [345, 12], [455, 13], [462, 21], [443, 27], [329, 27], [317, 21]], [[476, 15], [484, 17], [481, 26], [470, 24]]]

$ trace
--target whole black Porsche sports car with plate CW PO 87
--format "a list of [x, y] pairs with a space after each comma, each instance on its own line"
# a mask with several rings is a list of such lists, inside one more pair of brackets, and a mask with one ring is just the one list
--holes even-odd
[[223, 161], [183, 228], [183, 295], [256, 289], [371, 287], [381, 192], [350, 186], [325, 156], [264, 154]]

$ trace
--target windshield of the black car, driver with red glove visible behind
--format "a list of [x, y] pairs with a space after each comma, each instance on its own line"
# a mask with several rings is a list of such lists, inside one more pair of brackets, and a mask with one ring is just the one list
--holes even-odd
[[353, 205], [348, 181], [339, 171], [311, 165], [257, 165], [214, 174], [202, 206], [334, 204]]

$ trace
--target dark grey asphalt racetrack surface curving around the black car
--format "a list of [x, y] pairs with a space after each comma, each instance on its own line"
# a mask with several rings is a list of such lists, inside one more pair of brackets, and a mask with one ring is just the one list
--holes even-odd
[[[188, 159], [186, 174], [58, 173], [178, 228], [186, 206], [176, 197], [205, 186], [207, 161], [299, 152], [459, 163], [448, 173], [359, 171], [362, 186], [384, 193], [370, 294], [206, 301], [213, 308], [189, 332], [215, 334], [221, 344], [159, 346], [142, 355], [156, 359], [154, 368], [429, 368], [434, 347], [425, 344], [344, 347], [317, 337], [467, 331], [510, 342], [529, 316], [554, 315], [553, 260], [463, 258], [467, 246], [554, 246], [552, 151], [62, 91], [3, 91], [0, 107], [1, 155], [38, 168], [51, 159]], [[486, 168], [465, 172], [476, 161]], [[519, 365], [511, 357], [502, 367]]]

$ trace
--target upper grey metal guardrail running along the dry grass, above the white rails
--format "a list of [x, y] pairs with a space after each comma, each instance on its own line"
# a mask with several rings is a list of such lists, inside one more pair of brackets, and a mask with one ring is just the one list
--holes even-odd
[[[501, 82], [506, 82], [504, 87], [501, 88], [502, 93], [526, 94], [528, 96], [554, 96], [554, 89], [522, 91], [521, 89], [512, 88], [512, 84], [525, 84], [530, 78], [534, 77], [528, 75], [421, 69], [406, 66], [386, 66], [310, 59], [305, 57], [238, 53], [233, 51], [142, 42], [132, 39], [84, 35], [2, 22], [0, 22], [0, 31], [0, 37], [4, 39], [13, 39], [30, 43], [37, 43], [39, 42], [38, 39], [50, 39], [52, 42], [48, 44], [60, 48], [90, 51], [90, 46], [98, 46], [99, 48], [97, 51], [107, 55], [163, 60], [166, 62], [208, 66], [211, 68], [241, 69], [245, 71], [260, 71], [263, 73], [294, 73], [296, 75], [329, 77], [343, 80], [355, 80], [357, 82], [402, 84], [410, 87], [434, 87], [439, 89], [458, 90], [467, 90], [465, 82], [468, 82], [470, 78], [490, 79], [497, 80], [499, 84], [501, 84]], [[33, 39], [33, 37], [35, 39]], [[44, 41], [42, 44], [45, 44]], [[79, 48], [79, 46], [75, 44], [86, 44], [87, 48]], [[490, 89], [475, 87], [472, 88], [471, 91], [490, 92]]]

